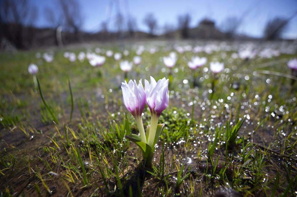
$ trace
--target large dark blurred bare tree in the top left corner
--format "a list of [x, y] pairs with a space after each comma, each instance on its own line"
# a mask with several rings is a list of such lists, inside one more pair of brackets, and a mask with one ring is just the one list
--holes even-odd
[[28, 48], [33, 41], [37, 8], [27, 0], [0, 1], [0, 35], [17, 48]]

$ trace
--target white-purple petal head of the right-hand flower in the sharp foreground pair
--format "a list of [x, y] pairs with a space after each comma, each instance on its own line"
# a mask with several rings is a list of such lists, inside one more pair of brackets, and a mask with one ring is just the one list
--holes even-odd
[[145, 83], [145, 93], [146, 93], [146, 104], [151, 110], [151, 114], [156, 114], [158, 117], [164, 109], [168, 106], [169, 94], [168, 94], [168, 83], [169, 80], [160, 79], [158, 83], [151, 77], [151, 84], [147, 80]]

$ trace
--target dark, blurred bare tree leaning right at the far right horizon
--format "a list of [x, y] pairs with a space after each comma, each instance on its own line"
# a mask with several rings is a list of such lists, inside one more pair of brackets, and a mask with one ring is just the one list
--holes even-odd
[[266, 40], [280, 39], [282, 33], [284, 33], [287, 28], [288, 22], [288, 19], [283, 19], [280, 17], [276, 17], [268, 21], [264, 29], [264, 38]]

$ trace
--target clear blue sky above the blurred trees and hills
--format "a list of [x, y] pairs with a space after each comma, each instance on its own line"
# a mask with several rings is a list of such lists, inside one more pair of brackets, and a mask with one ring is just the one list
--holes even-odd
[[[55, 9], [58, 0], [31, 0], [37, 5], [39, 17], [37, 26], [47, 26], [44, 9]], [[110, 18], [109, 28], [114, 28], [114, 17], [118, 10], [127, 18], [128, 15], [137, 21], [139, 30], [148, 31], [143, 24], [147, 13], [153, 13], [159, 27], [165, 23], [177, 26], [178, 15], [189, 13], [191, 26], [207, 17], [215, 21], [217, 27], [227, 17], [243, 17], [238, 33], [253, 37], [261, 37], [268, 20], [278, 17], [289, 17], [297, 11], [297, 0], [78, 0], [84, 17], [83, 30], [96, 32], [102, 21]], [[245, 13], [245, 14], [244, 14]], [[161, 28], [159, 29], [161, 31]], [[297, 15], [290, 21], [285, 38], [297, 39]]]

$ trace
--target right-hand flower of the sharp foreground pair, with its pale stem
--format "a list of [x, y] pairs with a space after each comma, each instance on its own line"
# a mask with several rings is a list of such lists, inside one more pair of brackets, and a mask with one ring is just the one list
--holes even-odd
[[146, 104], [149, 106], [151, 111], [151, 125], [150, 125], [150, 133], [148, 137], [148, 145], [151, 148], [154, 148], [154, 140], [158, 125], [158, 120], [160, 114], [164, 109], [168, 106], [169, 103], [169, 94], [168, 94], [168, 83], [169, 80], [160, 79], [158, 82], [151, 77], [151, 84], [147, 80], [145, 83], [145, 93], [146, 93]]

